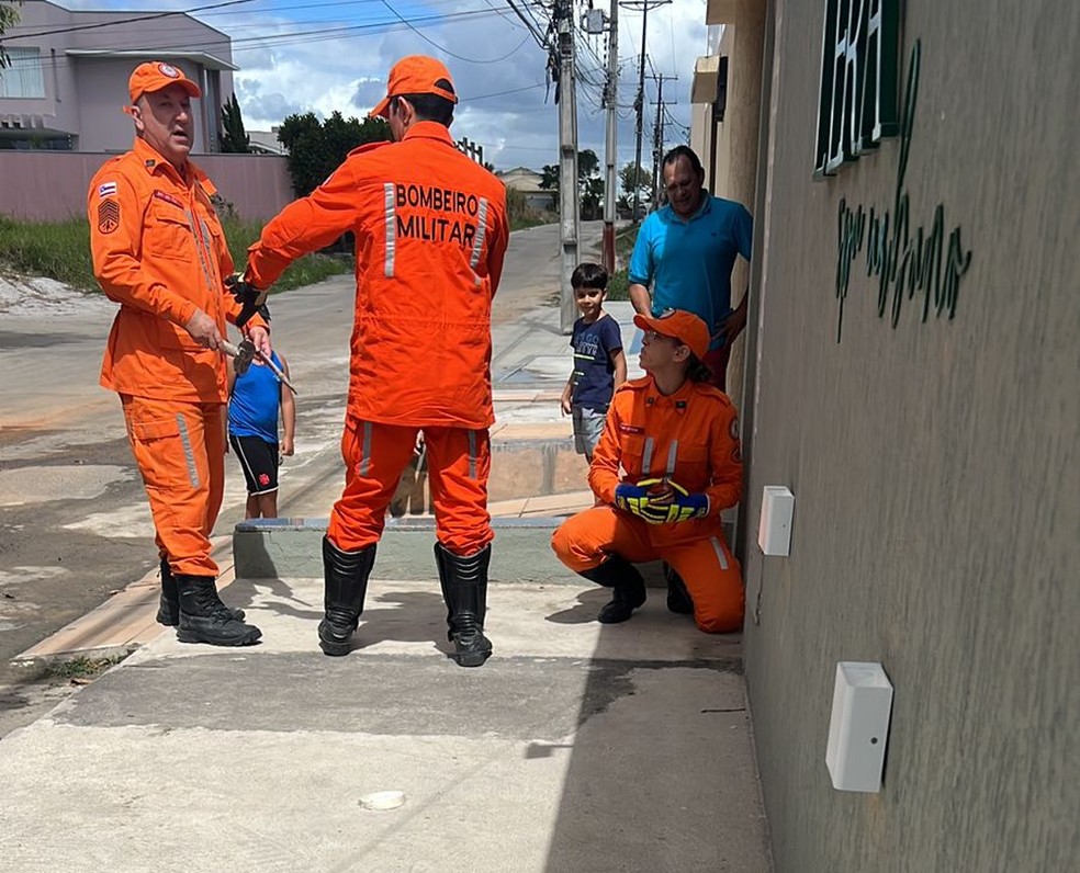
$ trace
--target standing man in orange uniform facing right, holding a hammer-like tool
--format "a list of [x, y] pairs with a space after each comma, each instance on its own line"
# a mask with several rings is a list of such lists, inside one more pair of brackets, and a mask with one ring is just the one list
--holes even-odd
[[[225, 485], [226, 320], [270, 353], [266, 321], [225, 287], [233, 261], [188, 155], [199, 87], [168, 64], [128, 82], [135, 145], [90, 182], [93, 272], [120, 304], [101, 384], [120, 395], [161, 558], [158, 621], [184, 643], [243, 646], [261, 632], [217, 597], [210, 533]], [[238, 320], [239, 319], [239, 320]]]

